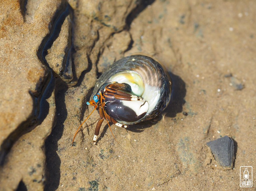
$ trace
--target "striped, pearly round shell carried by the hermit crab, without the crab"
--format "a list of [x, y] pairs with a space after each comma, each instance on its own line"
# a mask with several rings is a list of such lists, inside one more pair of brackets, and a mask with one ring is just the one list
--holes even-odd
[[[127, 92], [140, 96], [149, 104], [146, 115], [137, 121], [120, 121], [124, 125], [136, 124], [159, 115], [168, 105], [172, 81], [169, 74], [153, 58], [132, 55], [114, 62], [96, 82], [93, 95], [113, 82], [126, 83]], [[130, 102], [130, 103], [129, 103]], [[128, 104], [133, 104], [128, 101]]]

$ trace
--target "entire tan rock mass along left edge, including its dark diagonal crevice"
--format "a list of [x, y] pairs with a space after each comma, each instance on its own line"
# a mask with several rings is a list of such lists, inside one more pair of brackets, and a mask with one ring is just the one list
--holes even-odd
[[62, 5], [11, 1], [0, 7], [1, 190], [18, 185], [43, 190], [44, 140], [54, 126], [55, 83], [40, 50]]

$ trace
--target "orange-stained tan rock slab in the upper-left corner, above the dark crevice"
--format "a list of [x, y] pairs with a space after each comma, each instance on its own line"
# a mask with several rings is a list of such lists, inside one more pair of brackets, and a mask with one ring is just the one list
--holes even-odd
[[[37, 50], [49, 33], [51, 17], [60, 5], [56, 1], [41, 2], [38, 6], [33, 7], [36, 10], [33, 23], [24, 22], [19, 1], [3, 3], [0, 8], [0, 87], [3, 90], [0, 92], [0, 145], [22, 122], [33, 117], [33, 95], [42, 93], [49, 78]], [[47, 9], [48, 6], [51, 8]]]

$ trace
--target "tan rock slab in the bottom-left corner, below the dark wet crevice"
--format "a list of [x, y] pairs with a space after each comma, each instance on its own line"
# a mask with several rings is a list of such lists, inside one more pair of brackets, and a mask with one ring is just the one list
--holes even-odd
[[47, 99], [51, 105], [49, 114], [41, 125], [21, 136], [12, 146], [0, 167], [0, 190], [21, 190], [20, 181], [27, 190], [43, 190], [45, 175], [45, 139], [55, 125], [55, 94]]

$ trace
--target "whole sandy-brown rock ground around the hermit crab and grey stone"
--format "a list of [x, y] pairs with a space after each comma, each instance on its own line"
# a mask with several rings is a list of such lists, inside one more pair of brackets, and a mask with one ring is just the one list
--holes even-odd
[[[4, 3], [3, 3], [4, 2]], [[2, 1], [0, 190], [243, 190], [256, 168], [255, 1]], [[98, 76], [131, 54], [173, 80], [156, 119], [122, 129], [87, 106]], [[229, 136], [234, 167], [207, 142]], [[246, 190], [255, 190], [253, 187]]]

